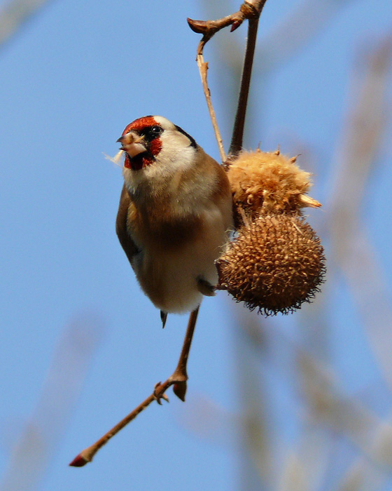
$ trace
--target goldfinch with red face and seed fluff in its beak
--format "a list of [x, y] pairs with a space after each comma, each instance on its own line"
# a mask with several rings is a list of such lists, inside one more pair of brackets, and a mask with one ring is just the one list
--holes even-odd
[[167, 314], [215, 295], [215, 261], [233, 229], [225, 170], [179, 126], [143, 116], [121, 137], [124, 184], [116, 233], [141, 289]]

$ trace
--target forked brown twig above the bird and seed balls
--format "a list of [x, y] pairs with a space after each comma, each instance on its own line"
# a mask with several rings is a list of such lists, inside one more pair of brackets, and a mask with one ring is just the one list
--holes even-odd
[[251, 83], [251, 72], [253, 65], [253, 58], [255, 54], [255, 42], [258, 32], [258, 20], [262, 12], [262, 8], [267, 0], [245, 0], [239, 8], [239, 11], [227, 15], [218, 20], [193, 20], [188, 18], [188, 24], [190, 29], [198, 34], [203, 34], [202, 40], [197, 46], [197, 66], [200, 70], [200, 76], [202, 77], [202, 84], [204, 90], [204, 96], [207, 100], [207, 106], [209, 108], [209, 114], [214, 127], [216, 141], [218, 142], [219, 153], [221, 159], [225, 162], [225, 151], [223, 149], [223, 142], [221, 133], [216, 122], [216, 115], [211, 102], [211, 93], [207, 83], [207, 69], [208, 63], [204, 62], [203, 50], [206, 43], [211, 39], [216, 32], [231, 25], [230, 32], [233, 32], [239, 27], [244, 20], [249, 21], [248, 25], [248, 39], [246, 41], [246, 52], [244, 58], [244, 66], [241, 76], [241, 87], [239, 90], [239, 98], [237, 105], [237, 113], [235, 116], [235, 124], [232, 133], [232, 141], [229, 150], [230, 156], [235, 156], [241, 150], [242, 140], [244, 137], [244, 124], [246, 116], [246, 105], [248, 103], [249, 86]]

